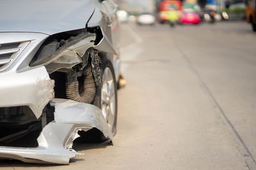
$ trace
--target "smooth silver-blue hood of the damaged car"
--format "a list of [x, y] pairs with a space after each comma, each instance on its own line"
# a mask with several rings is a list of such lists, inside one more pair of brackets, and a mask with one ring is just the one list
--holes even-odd
[[0, 32], [58, 32], [82, 29], [93, 13], [93, 0], [2, 0]]

